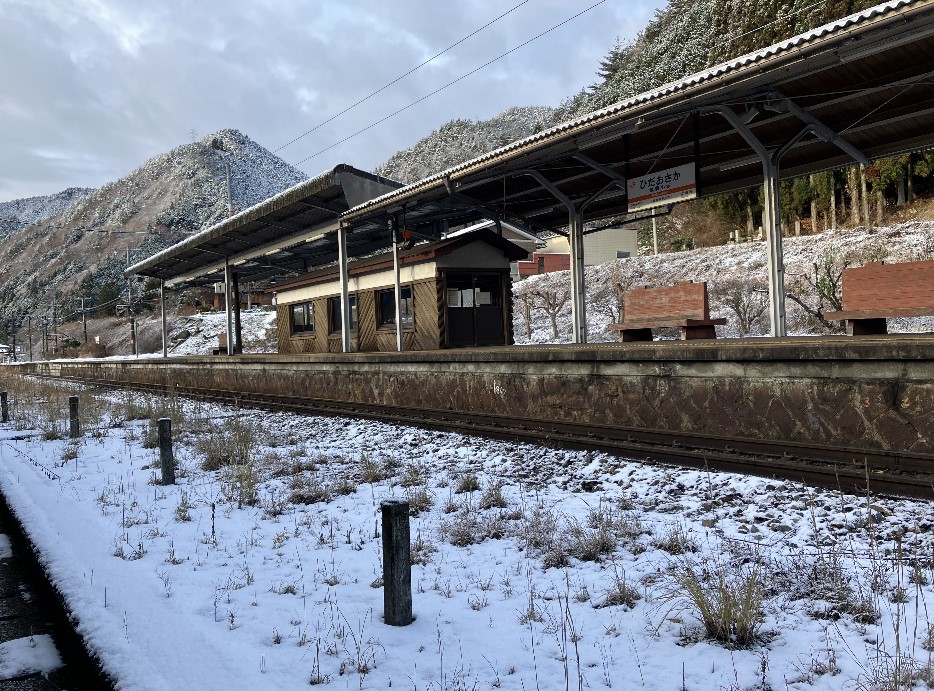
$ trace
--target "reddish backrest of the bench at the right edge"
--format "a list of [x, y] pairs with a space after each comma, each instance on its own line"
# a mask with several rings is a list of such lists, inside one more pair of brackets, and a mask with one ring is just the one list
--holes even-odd
[[934, 261], [873, 262], [843, 271], [844, 310], [934, 307]]

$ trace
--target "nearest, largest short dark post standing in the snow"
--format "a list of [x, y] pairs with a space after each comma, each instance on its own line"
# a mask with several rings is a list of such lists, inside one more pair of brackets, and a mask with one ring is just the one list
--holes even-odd
[[409, 502], [380, 502], [383, 515], [383, 621], [412, 623], [412, 563], [409, 557]]

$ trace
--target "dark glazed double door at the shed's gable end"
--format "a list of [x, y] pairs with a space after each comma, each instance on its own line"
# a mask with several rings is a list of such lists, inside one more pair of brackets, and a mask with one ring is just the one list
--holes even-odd
[[448, 273], [448, 347], [504, 345], [500, 274]]

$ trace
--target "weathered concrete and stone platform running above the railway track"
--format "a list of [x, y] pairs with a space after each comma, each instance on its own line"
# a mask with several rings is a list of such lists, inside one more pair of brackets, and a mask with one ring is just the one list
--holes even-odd
[[930, 335], [55, 361], [15, 370], [934, 454]]

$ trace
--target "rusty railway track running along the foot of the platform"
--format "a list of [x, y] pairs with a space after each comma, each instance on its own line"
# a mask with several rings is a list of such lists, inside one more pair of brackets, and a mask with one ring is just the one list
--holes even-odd
[[934, 498], [934, 455], [931, 454], [657, 432], [450, 410], [389, 408], [184, 386], [59, 379], [106, 389], [178, 395], [241, 407], [304, 415], [364, 417], [556, 448], [603, 451], [648, 462], [800, 481], [849, 493]]

